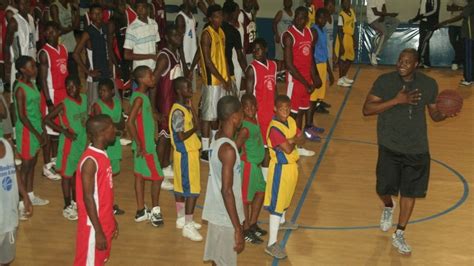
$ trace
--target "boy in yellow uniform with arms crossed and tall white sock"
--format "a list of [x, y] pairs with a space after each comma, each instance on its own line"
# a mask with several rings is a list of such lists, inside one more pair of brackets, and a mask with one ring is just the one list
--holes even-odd
[[290, 98], [279, 95], [275, 99], [275, 118], [267, 130], [270, 165], [265, 189], [264, 207], [270, 212], [269, 238], [265, 252], [276, 259], [286, 258], [286, 251], [277, 243], [278, 230], [295, 230], [297, 224], [285, 220], [298, 181], [298, 150], [296, 145], [304, 137], [290, 117]]

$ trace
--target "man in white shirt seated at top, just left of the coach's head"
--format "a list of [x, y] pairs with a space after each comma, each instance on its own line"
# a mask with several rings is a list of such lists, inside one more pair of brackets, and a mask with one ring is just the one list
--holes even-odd
[[374, 49], [369, 54], [373, 66], [377, 65], [377, 56], [400, 24], [396, 16], [398, 13], [387, 12], [385, 0], [367, 0], [367, 23], [378, 33], [373, 43]]

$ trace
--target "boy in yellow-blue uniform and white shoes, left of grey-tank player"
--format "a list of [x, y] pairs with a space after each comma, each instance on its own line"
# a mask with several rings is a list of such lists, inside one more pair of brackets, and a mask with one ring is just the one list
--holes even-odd
[[179, 77], [173, 82], [176, 102], [171, 107], [169, 129], [173, 146], [174, 194], [176, 200], [176, 228], [183, 229], [183, 236], [192, 241], [202, 241], [193, 221], [194, 207], [201, 192], [198, 122], [192, 106], [191, 81]]

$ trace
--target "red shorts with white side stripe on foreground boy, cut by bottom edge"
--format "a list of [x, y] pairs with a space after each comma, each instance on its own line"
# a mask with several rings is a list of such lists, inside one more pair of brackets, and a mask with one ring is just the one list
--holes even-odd
[[113, 230], [103, 228], [107, 239], [107, 249], [98, 250], [95, 242], [95, 230], [93, 226], [86, 224], [77, 226], [76, 256], [74, 266], [99, 266], [105, 265], [110, 257], [112, 248]]

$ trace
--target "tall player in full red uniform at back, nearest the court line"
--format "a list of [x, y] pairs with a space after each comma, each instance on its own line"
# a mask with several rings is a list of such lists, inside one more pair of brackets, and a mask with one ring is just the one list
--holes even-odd
[[[321, 87], [321, 79], [317, 74], [312, 55], [313, 35], [306, 27], [308, 10], [298, 7], [295, 10], [293, 25], [283, 33], [282, 46], [287, 67], [287, 95], [291, 99], [291, 115], [296, 120], [298, 128], [303, 126], [303, 116], [306, 116], [304, 134], [312, 141], [321, 141], [318, 130], [313, 126], [310, 115], [310, 94]], [[313, 156], [313, 151], [298, 148], [301, 156]]]

